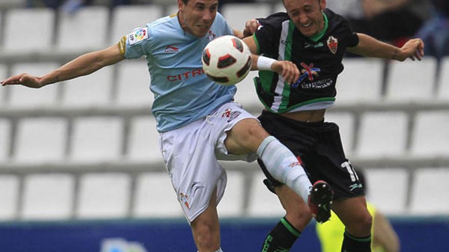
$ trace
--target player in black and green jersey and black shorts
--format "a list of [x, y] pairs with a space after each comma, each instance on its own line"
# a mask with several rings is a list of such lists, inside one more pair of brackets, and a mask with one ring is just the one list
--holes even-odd
[[[291, 61], [300, 70], [300, 78], [292, 85], [276, 73], [259, 72], [256, 90], [265, 106], [259, 120], [297, 156], [312, 183], [325, 180], [333, 188], [331, 208], [346, 227], [341, 251], [370, 251], [372, 218], [366, 209], [364, 189], [344, 155], [338, 126], [324, 122], [325, 111], [334, 105], [335, 82], [343, 71], [345, 50], [365, 57], [421, 60], [424, 44], [412, 39], [398, 48], [356, 34], [346, 19], [326, 9], [326, 0], [284, 0], [284, 6], [287, 13], [247, 21], [244, 31], [248, 36], [254, 33], [245, 38], [253, 53]], [[267, 176], [264, 183], [286, 210], [262, 251], [288, 251], [315, 209], [309, 209], [260, 164]]]

